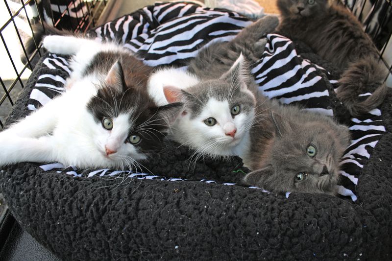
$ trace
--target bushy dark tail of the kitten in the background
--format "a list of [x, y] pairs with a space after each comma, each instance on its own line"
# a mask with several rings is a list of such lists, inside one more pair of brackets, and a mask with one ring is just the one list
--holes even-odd
[[[376, 59], [361, 59], [343, 72], [337, 96], [352, 116], [366, 114], [384, 101], [389, 89], [384, 82], [386, 76], [385, 68]], [[369, 87], [376, 89], [368, 98], [359, 101], [358, 96], [364, 95]]]

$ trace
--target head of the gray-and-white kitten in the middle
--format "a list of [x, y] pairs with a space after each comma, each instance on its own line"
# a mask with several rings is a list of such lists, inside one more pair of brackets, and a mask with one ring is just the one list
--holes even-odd
[[[197, 155], [243, 156], [250, 145], [249, 129], [256, 98], [242, 75], [240, 56], [221, 77], [188, 88], [165, 86], [169, 103], [184, 107], [172, 124], [170, 138], [196, 150]], [[186, 74], [186, 72], [184, 72]]]

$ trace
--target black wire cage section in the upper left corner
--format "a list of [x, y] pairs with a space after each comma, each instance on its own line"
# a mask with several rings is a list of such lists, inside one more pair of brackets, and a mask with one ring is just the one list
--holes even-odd
[[16, 97], [42, 55], [39, 43], [28, 55], [24, 43], [33, 25], [86, 31], [96, 26], [108, 0], [3, 0], [0, 2], [0, 130]]

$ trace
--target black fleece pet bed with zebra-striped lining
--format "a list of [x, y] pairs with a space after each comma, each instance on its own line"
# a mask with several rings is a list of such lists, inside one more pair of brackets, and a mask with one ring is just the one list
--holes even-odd
[[[198, 48], [229, 41], [250, 23], [227, 10], [156, 3], [90, 34], [117, 39], [147, 65], [185, 67]], [[192, 151], [168, 143], [143, 173], [57, 163], [3, 167], [1, 191], [17, 221], [64, 260], [390, 259], [391, 92], [379, 109], [350, 118], [334, 93], [341, 71], [301, 43], [266, 37], [252, 66], [260, 91], [350, 126], [342, 196], [243, 186], [248, 170], [240, 158], [195, 162]], [[60, 93], [69, 73], [67, 57], [46, 54], [7, 123]]]

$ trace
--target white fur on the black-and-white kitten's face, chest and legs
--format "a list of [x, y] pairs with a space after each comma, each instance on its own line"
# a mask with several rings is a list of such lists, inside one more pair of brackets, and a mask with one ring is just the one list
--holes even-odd
[[[95, 53], [107, 50], [110, 45], [97, 45], [94, 50], [89, 50], [86, 47], [90, 46], [90, 40], [80, 44], [88, 46], [80, 47], [79, 51], [86, 52], [73, 57], [71, 66], [73, 70], [78, 69], [70, 76], [74, 80], [73, 88], [0, 133], [0, 166], [24, 161], [56, 161], [81, 168], [132, 168], [137, 165], [135, 161], [147, 158], [125, 142], [131, 124], [129, 115], [112, 119], [113, 129], [109, 131], [88, 111], [86, 104], [98, 91], [96, 83], [106, 75], [82, 77], [80, 73]], [[106, 155], [105, 147], [116, 153]]]

